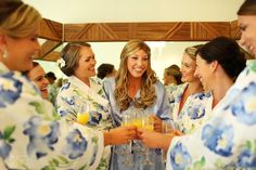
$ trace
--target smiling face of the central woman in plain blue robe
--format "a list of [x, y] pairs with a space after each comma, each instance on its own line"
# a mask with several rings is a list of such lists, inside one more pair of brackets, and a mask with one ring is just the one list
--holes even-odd
[[135, 78], [140, 78], [148, 69], [149, 56], [143, 50], [137, 51], [135, 54], [128, 56], [127, 68], [129, 75]]

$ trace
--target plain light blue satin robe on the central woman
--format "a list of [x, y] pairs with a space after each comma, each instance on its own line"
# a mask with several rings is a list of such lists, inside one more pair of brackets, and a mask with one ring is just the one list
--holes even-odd
[[[116, 105], [116, 101], [114, 97], [114, 90], [115, 90], [115, 79], [114, 78], [107, 78], [104, 82], [104, 90], [106, 93], [106, 96], [111, 103], [111, 109], [112, 109], [112, 116], [114, 118], [114, 126], [119, 127], [121, 123], [121, 117], [126, 113], [129, 113], [133, 108], [133, 103], [130, 104], [130, 106], [120, 113], [120, 109]], [[161, 82], [155, 83], [155, 91], [156, 91], [156, 101], [154, 105], [151, 108], [148, 108], [148, 112], [154, 113], [157, 117], [159, 117], [163, 120], [168, 120], [170, 118], [170, 108], [168, 104], [168, 99], [166, 96], [165, 88]], [[140, 91], [137, 92], [135, 97], [140, 97]], [[159, 151], [151, 151], [151, 159], [153, 160], [154, 165], [143, 165], [142, 156], [140, 156], [138, 153], [132, 153], [132, 161], [135, 162], [133, 166], [126, 166], [124, 164], [124, 160], [126, 156], [117, 154], [117, 152], [120, 149], [121, 146], [115, 146], [112, 155], [112, 162], [111, 162], [111, 170], [162, 170], [165, 169], [164, 165], [162, 164], [162, 155]]]

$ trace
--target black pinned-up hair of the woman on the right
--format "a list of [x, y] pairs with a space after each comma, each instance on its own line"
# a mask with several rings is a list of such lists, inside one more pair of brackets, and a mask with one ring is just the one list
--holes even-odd
[[218, 61], [226, 74], [235, 79], [244, 69], [246, 60], [239, 44], [227, 37], [217, 37], [199, 50], [199, 55], [207, 63]]

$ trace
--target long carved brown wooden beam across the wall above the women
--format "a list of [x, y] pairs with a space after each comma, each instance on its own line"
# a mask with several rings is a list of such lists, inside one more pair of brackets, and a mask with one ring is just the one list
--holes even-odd
[[[64, 30], [64, 32], [63, 32]], [[59, 42], [76, 41], [208, 41], [217, 36], [240, 39], [238, 21], [233, 22], [161, 22], [161, 23], [87, 23], [61, 24], [44, 18], [40, 25], [39, 37]], [[49, 43], [49, 42], [48, 42]], [[59, 44], [44, 44], [38, 58]], [[54, 58], [56, 56], [52, 56]], [[43, 58], [44, 60], [44, 58]]]

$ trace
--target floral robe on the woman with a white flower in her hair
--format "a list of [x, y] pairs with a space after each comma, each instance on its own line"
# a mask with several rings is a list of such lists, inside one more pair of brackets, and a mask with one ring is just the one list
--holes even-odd
[[[88, 87], [75, 76], [68, 77], [68, 82], [60, 89], [57, 94], [57, 113], [69, 119], [73, 114], [79, 113], [79, 107], [85, 104], [90, 106], [90, 120], [86, 126], [100, 131], [112, 128], [110, 104], [105, 99], [102, 84], [97, 79], [90, 78], [90, 87]], [[110, 156], [108, 146], [104, 149], [104, 156], [98, 169], [107, 169]]]

